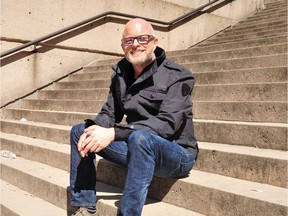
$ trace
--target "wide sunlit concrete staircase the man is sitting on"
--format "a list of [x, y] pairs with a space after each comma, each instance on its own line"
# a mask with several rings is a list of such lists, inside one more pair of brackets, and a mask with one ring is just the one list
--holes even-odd
[[[201, 152], [189, 177], [154, 178], [143, 215], [286, 216], [287, 0], [168, 56], [195, 74]], [[1, 148], [17, 154], [1, 158], [1, 215], [69, 215], [69, 131], [99, 111], [117, 60], [1, 111]], [[125, 172], [97, 158], [100, 215], [116, 215]]]

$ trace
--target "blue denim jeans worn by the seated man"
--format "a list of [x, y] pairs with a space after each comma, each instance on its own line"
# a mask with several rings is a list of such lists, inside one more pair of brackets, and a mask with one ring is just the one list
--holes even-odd
[[[82, 158], [77, 150], [83, 131], [84, 124], [75, 125], [71, 130], [71, 205], [95, 207], [95, 154]], [[195, 163], [193, 155], [176, 142], [143, 130], [133, 132], [127, 142], [112, 142], [98, 154], [127, 168], [119, 209], [122, 216], [141, 215], [153, 176], [185, 177]]]

